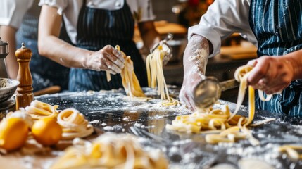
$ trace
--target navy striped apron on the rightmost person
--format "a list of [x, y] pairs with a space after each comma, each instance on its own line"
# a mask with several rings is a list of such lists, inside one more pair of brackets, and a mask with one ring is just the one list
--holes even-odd
[[[301, 0], [251, 0], [249, 22], [258, 39], [258, 56], [283, 56], [302, 49]], [[301, 56], [302, 59], [302, 56]], [[302, 80], [294, 80], [281, 94], [256, 107], [302, 118]]]

